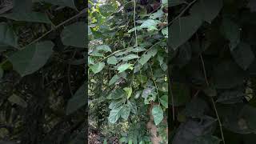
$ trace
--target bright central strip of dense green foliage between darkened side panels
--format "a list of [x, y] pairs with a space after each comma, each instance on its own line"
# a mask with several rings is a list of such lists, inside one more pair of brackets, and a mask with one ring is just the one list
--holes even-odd
[[89, 3], [90, 130], [99, 142], [166, 142], [167, 1]]

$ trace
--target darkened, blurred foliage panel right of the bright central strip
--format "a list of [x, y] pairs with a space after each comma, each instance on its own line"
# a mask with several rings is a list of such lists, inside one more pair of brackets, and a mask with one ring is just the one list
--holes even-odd
[[169, 4], [170, 142], [254, 143], [255, 1]]

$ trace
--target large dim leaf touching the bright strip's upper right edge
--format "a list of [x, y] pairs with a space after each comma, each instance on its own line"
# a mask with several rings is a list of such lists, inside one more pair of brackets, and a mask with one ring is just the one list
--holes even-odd
[[168, 29], [171, 32], [170, 47], [177, 50], [179, 46], [182, 46], [192, 37], [201, 25], [202, 21], [198, 15], [178, 18]]

